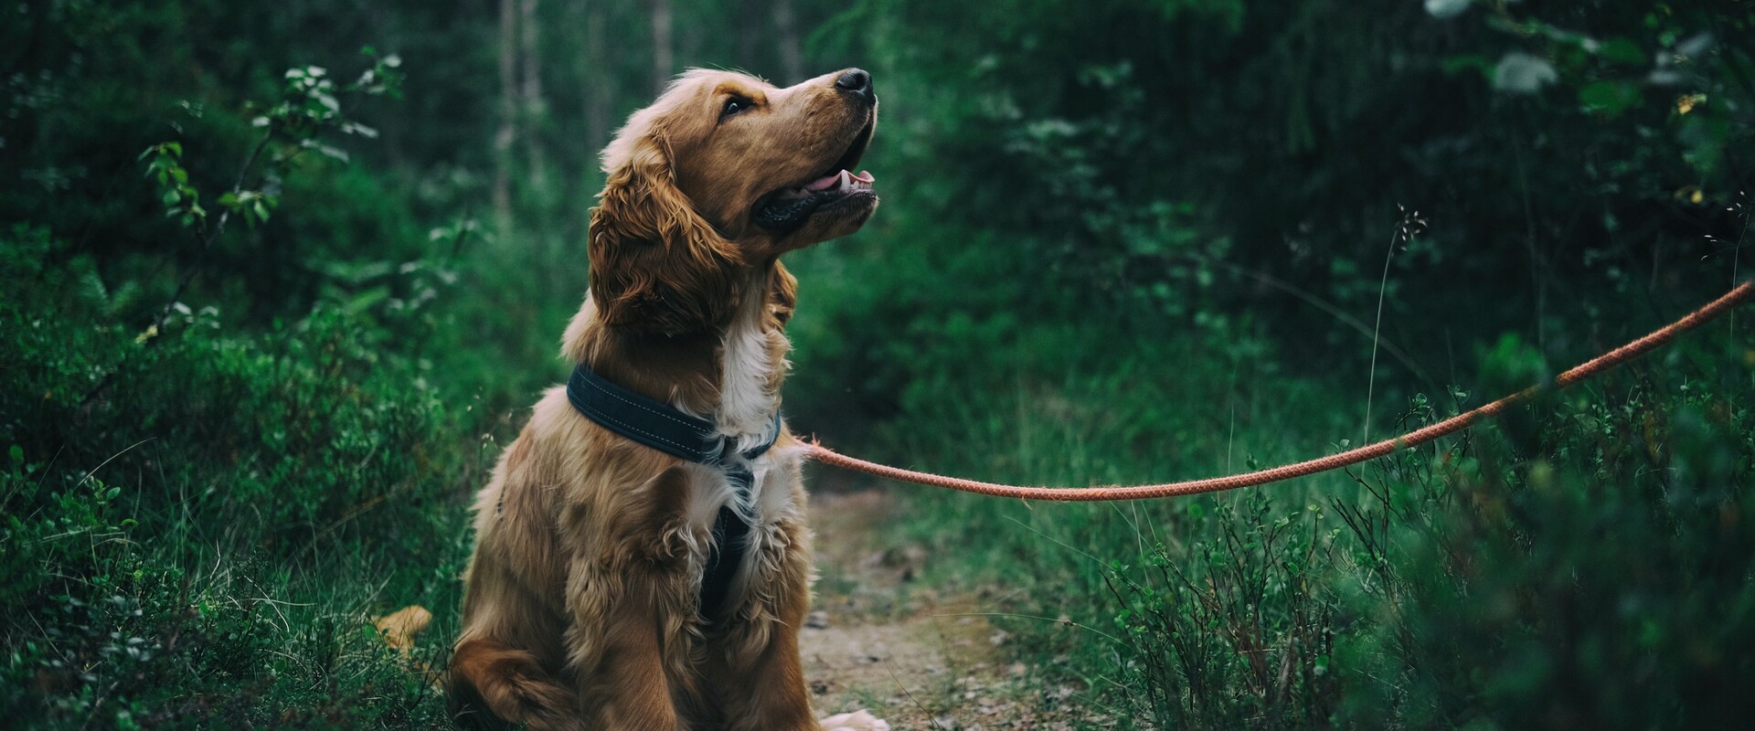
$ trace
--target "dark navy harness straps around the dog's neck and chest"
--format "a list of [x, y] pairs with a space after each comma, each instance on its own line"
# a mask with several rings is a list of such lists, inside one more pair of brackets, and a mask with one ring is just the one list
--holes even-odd
[[[749, 501], [749, 489], [755, 486], [749, 463], [779, 438], [779, 414], [774, 414], [774, 436], [737, 454], [742, 459], [732, 459], [732, 442], [720, 433], [718, 424], [616, 386], [584, 365], [572, 368], [572, 379], [567, 379], [567, 400], [579, 414], [609, 431], [677, 459], [720, 468], [737, 491], [737, 500], [744, 503]], [[732, 580], [737, 578], [737, 568], [744, 563], [749, 529], [749, 521], [744, 521], [742, 514], [730, 505], [720, 507], [720, 517], [713, 522], [713, 550], [700, 577], [702, 617], [714, 619], [723, 608]]]

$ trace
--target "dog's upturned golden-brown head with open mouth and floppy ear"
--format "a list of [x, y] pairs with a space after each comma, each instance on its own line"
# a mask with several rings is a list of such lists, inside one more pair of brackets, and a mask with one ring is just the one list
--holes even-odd
[[856, 231], [878, 195], [855, 172], [878, 124], [870, 75], [784, 89], [683, 74], [604, 149], [591, 296], [612, 326], [681, 335], [721, 323], [751, 265]]

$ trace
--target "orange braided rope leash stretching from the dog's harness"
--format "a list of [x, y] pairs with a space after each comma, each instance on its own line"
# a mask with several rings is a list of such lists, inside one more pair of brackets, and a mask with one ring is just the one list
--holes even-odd
[[[1699, 310], [1688, 312], [1681, 319], [1665, 324], [1650, 335], [1629, 342], [1627, 345], [1616, 347], [1604, 352], [1583, 365], [1567, 370], [1553, 379], [1557, 389], [1578, 384], [1590, 379], [1604, 370], [1615, 368], [1646, 352], [1667, 345], [1676, 335], [1683, 331], [1699, 328], [1713, 317], [1718, 317], [1736, 305], [1741, 305], [1755, 295], [1755, 282], [1743, 282], [1732, 287], [1729, 293], [1713, 300]], [[1264, 486], [1269, 482], [1290, 480], [1295, 477], [1314, 475], [1318, 472], [1339, 470], [1343, 466], [1358, 465], [1367, 459], [1376, 459], [1395, 452], [1397, 449], [1408, 449], [1432, 442], [1439, 436], [1460, 431], [1481, 419], [1499, 415], [1511, 405], [1525, 401], [1530, 396], [1541, 393], [1544, 386], [1530, 386], [1523, 391], [1501, 398], [1497, 401], [1485, 403], [1472, 410], [1457, 414], [1437, 424], [1430, 424], [1406, 435], [1388, 438], [1378, 444], [1369, 444], [1358, 449], [1351, 449], [1339, 454], [1330, 454], [1327, 458], [1307, 459], [1297, 465], [1283, 465], [1267, 470], [1250, 472], [1243, 475], [1228, 477], [1207, 477], [1200, 480], [1183, 480], [1167, 482], [1155, 486], [1106, 486], [1106, 487], [1025, 487], [1025, 486], [1002, 486], [995, 482], [965, 480], [958, 477], [932, 475], [927, 472], [902, 470], [888, 465], [869, 463], [865, 459], [849, 458], [846, 454], [830, 451], [820, 442], [806, 442], [809, 456], [823, 465], [834, 465], [842, 470], [863, 472], [867, 475], [876, 475], [890, 480], [914, 482], [932, 487], [956, 489], [963, 493], [992, 494], [997, 498], [1018, 498], [1018, 500], [1053, 500], [1053, 501], [1118, 501], [1118, 500], [1148, 500], [1148, 498], [1178, 498], [1185, 494], [1200, 493], [1220, 493], [1237, 487]]]

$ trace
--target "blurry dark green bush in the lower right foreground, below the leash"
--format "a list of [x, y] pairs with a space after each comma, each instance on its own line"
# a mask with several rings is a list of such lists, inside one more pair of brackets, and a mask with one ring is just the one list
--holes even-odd
[[[1674, 382], [1673, 379], [1664, 379]], [[1348, 715], [1413, 726], [1736, 726], [1755, 680], [1755, 452], [1743, 396], [1555, 403], [1558, 438], [1483, 440], [1395, 526], [1388, 621], [1341, 643]], [[1534, 458], [1546, 454], [1551, 458]], [[1385, 663], [1392, 650], [1395, 657]]]

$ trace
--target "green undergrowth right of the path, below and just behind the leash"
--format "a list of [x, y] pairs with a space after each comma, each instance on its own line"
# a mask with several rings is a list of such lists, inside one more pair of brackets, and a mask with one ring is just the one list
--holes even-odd
[[[1755, 710], [1734, 691], [1755, 682], [1739, 650], [1755, 647], [1755, 366], [1725, 326], [1343, 473], [1121, 507], [923, 494], [899, 540], [937, 557], [928, 582], [990, 598], [1039, 703], [1097, 708], [1093, 726], [1736, 726]], [[1381, 428], [1550, 372], [1515, 340], [1483, 361], [1481, 391], [1415, 394]], [[1174, 379], [1020, 379], [930, 431], [899, 424], [892, 454], [1011, 482], [1148, 482], [1314, 456], [1320, 435], [1357, 429], [1320, 408], [1339, 398], [1285, 377], [1239, 379], [1243, 403], [1267, 403], [1232, 424], [1169, 408], [1234, 380], [1164, 365]], [[1181, 459], [1155, 459], [1176, 442]], [[1067, 682], [1083, 692], [1048, 691]]]

